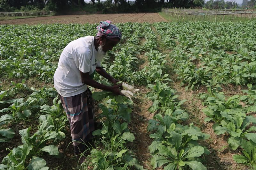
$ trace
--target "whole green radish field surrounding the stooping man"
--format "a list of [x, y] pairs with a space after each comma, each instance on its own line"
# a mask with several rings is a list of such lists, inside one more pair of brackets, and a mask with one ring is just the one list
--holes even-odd
[[0, 169], [255, 166], [255, 21], [117, 24], [123, 39], [103, 67], [140, 92], [93, 93], [95, 146], [77, 165], [52, 77], [66, 44], [95, 26], [0, 26]]

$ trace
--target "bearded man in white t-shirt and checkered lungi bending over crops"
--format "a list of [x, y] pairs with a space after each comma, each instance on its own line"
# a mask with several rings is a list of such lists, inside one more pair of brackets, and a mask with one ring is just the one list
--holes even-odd
[[[94, 128], [94, 100], [88, 85], [122, 95], [116, 80], [100, 65], [108, 50], [121, 40], [122, 33], [111, 24], [102, 21], [96, 36], [86, 36], [71, 41], [62, 51], [53, 76], [54, 87], [68, 116], [75, 155], [85, 151], [84, 143], [92, 140]], [[114, 86], [93, 80], [95, 71]]]

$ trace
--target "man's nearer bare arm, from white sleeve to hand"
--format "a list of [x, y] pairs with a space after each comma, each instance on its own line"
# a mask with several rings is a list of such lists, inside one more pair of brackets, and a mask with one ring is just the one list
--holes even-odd
[[116, 95], [123, 95], [119, 89], [119, 87], [122, 85], [122, 83], [120, 83], [118, 85], [114, 85], [114, 86], [102, 85], [102, 84], [98, 83], [97, 81], [93, 80], [92, 78], [90, 78], [89, 72], [83, 73], [82, 71], [80, 71], [80, 74], [81, 74], [82, 83], [84, 83], [86, 85], [90, 85], [97, 89], [106, 90], [106, 91], [112, 92]]

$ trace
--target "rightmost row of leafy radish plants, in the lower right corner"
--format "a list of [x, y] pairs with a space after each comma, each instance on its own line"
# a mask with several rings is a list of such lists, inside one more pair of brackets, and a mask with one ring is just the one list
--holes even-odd
[[[243, 155], [234, 155], [237, 163], [243, 163], [255, 168], [256, 166], [256, 118], [252, 114], [256, 111], [256, 91], [249, 88], [244, 90], [247, 95], [234, 95], [226, 98], [220, 89], [208, 88], [209, 93], [202, 93], [200, 98], [205, 107], [202, 111], [207, 117], [205, 122], [213, 121], [212, 128], [216, 135], [228, 134], [228, 146], [232, 150], [242, 148]], [[246, 105], [242, 106], [241, 102]]]

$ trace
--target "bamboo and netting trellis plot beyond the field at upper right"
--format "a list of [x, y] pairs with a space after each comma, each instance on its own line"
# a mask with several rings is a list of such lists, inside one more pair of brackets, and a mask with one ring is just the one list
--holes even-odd
[[244, 11], [231, 10], [202, 10], [202, 9], [185, 9], [185, 8], [163, 8], [162, 12], [170, 18], [178, 21], [186, 20], [210, 20], [210, 21], [234, 21], [234, 20], [251, 20], [256, 18], [254, 9]]

